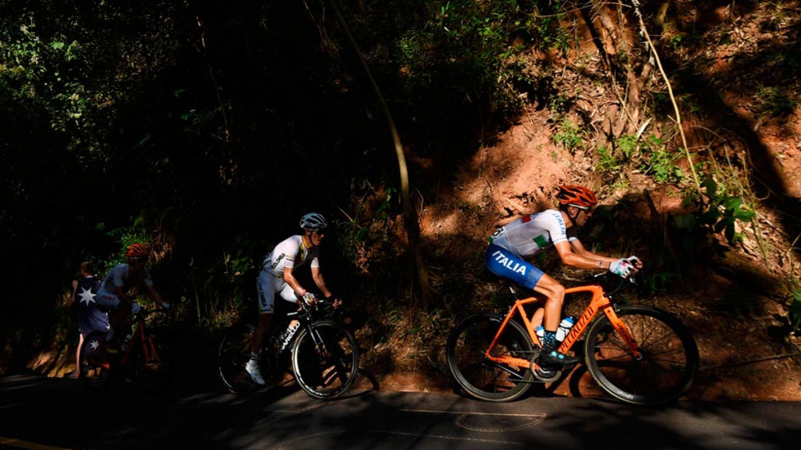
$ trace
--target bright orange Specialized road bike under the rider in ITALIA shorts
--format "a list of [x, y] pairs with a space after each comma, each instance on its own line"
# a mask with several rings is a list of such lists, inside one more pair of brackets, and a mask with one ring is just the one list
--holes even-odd
[[[605, 291], [602, 284], [615, 279], [620, 280], [618, 287]], [[590, 293], [592, 300], [559, 352], [580, 344], [577, 352], [583, 354], [587, 372], [618, 400], [630, 404], [670, 402], [686, 392], [697, 375], [698, 348], [690, 331], [669, 312], [615, 303], [613, 295], [627, 284], [626, 279], [605, 274], [598, 275], [593, 284], [566, 289], [566, 294]], [[533, 383], [562, 378], [562, 370], [568, 368], [540, 368], [534, 362], [541, 342], [524, 306], [540, 301], [518, 299], [506, 315], [471, 315], [451, 331], [448, 365], [470, 396], [509, 401], [525, 394]], [[584, 340], [579, 341], [582, 335]]]

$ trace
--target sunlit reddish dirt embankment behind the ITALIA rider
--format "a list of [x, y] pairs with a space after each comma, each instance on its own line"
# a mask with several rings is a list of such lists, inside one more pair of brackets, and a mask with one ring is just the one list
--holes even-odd
[[[801, 9], [797, 2], [791, 3], [781, 17], [775, 5], [735, 11], [720, 6], [692, 19], [697, 21], [696, 31], [664, 26], [659, 37], [675, 44], [661, 46], [666, 49], [662, 59], [667, 70], [673, 70], [668, 75], [682, 108], [694, 164], [726, 184], [731, 194], [743, 195], [757, 213], [752, 223], [738, 223], [742, 243], [730, 245], [723, 236], [716, 236], [713, 248], [723, 249], [719, 253], [698, 248], [710, 254], [674, 255], [673, 261], [658, 262], [666, 253], [662, 234], [667, 232], [670, 216], [682, 213], [682, 197], [696, 188], [670, 118], [672, 109], [667, 109], [668, 114], [654, 114], [662, 107], [654, 102], [666, 98], [657, 68], [620, 59], [622, 47], [642, 46], [636, 23], [620, 26], [618, 22], [618, 28], [612, 29], [600, 24], [600, 14], [596, 23], [601, 37], [596, 40], [602, 46], [594, 44], [590, 30], [580, 27], [579, 42], [583, 43], [568, 54], [534, 54], [529, 60], [533, 72], [553, 79], [553, 90], [568, 98], [570, 106], [558, 110], [562, 106], [553, 102], [532, 104], [516, 125], [497, 137], [497, 144], [481, 148], [461, 165], [453, 183], [437, 193], [438, 203], [424, 208], [424, 243], [446, 249], [432, 255], [437, 265], [445, 266], [441, 271], [460, 273], [477, 297], [496, 295], [493, 279], [481, 273], [483, 247], [474, 247], [484, 242], [501, 219], [553, 207], [557, 184], [592, 187], [619, 221], [614, 227], [607, 221], [605, 228], [594, 227], [586, 233], [589, 241], [600, 243], [600, 252], [642, 255], [652, 271], [654, 266], [658, 271], [684, 271], [682, 279], [673, 279], [672, 286], [663, 286], [646, 301], [678, 315], [698, 341], [702, 371], [688, 396], [801, 400], [801, 339], [791, 332], [787, 319], [788, 281], [801, 273], [793, 249], [799, 222], [793, 205], [801, 199], [801, 181], [794, 176], [801, 168], [797, 101], [801, 90], [797, 76], [787, 73], [797, 65], [792, 52], [799, 47]], [[606, 11], [609, 16], [611, 12]], [[688, 12], [674, 14], [681, 17], [677, 22], [690, 20]], [[690, 39], [699, 41], [682, 45]], [[599, 57], [599, 48], [606, 49], [606, 57]], [[635, 56], [647, 59], [647, 54]], [[603, 75], [608, 74], [604, 58], [626, 67], [634, 82], [615, 86]], [[545, 59], [548, 73], [541, 69]], [[782, 74], [791, 78], [780, 83]], [[578, 124], [574, 134], [580, 145], [566, 143], [566, 123]], [[673, 155], [681, 179], [664, 182], [643, 164], [626, 164], [624, 149], [616, 140], [635, 133], [641, 142], [649, 135], [658, 139]], [[618, 155], [617, 170], [604, 166], [602, 147]], [[624, 235], [611, 238], [608, 234], [613, 232]], [[678, 265], [686, 267], [671, 267], [678, 260]], [[448, 266], [453, 261], [458, 263]], [[562, 272], [553, 261], [549, 264], [557, 278], [565, 277], [570, 283], [575, 276]], [[650, 276], [659, 275], [652, 272]], [[438, 359], [441, 354], [429, 355], [439, 372], [398, 371], [384, 382], [401, 389], [447, 389], [449, 382]], [[592, 392], [585, 372], [574, 376], [582, 380], [576, 385]], [[569, 384], [566, 381], [557, 392], [570, 395]]]

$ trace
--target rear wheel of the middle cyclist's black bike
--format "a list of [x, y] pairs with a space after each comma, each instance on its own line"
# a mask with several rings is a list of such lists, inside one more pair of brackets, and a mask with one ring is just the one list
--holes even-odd
[[251, 341], [256, 327], [250, 323], [229, 327], [217, 347], [217, 375], [223, 386], [235, 394], [252, 392], [256, 384], [248, 372], [251, 356]]

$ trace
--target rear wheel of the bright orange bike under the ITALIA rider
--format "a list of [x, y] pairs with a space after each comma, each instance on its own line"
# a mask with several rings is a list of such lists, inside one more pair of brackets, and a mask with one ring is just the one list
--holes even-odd
[[[507, 366], [486, 359], [504, 317], [496, 314], [471, 315], [453, 328], [445, 348], [453, 378], [469, 395], [485, 401], [505, 402], [521, 397], [531, 387], [529, 368]], [[493, 348], [495, 356], [531, 360], [533, 346], [528, 333], [509, 320]]]

